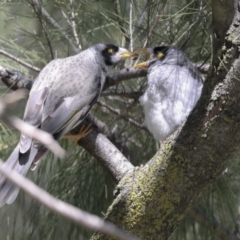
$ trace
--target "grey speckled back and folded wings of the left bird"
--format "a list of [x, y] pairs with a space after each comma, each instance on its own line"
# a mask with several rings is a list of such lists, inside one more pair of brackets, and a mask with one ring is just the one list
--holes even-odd
[[[76, 59], [73, 56], [50, 62], [35, 80], [25, 109], [26, 122], [51, 133], [56, 139], [87, 115], [105, 79], [98, 66], [93, 64], [89, 71], [84, 59]], [[31, 145], [32, 139], [22, 135], [19, 155], [19, 161], [21, 153], [25, 155], [22, 164], [28, 161]]]

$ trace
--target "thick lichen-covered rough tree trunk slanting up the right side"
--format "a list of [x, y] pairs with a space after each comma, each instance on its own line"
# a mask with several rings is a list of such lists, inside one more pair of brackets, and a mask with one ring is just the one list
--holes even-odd
[[[106, 219], [145, 239], [167, 239], [199, 195], [217, 179], [240, 146], [240, 28], [234, 1], [213, 1], [214, 68], [180, 134], [118, 185]], [[230, 13], [224, 8], [230, 9]], [[218, 14], [221, 14], [221, 18]], [[216, 17], [217, 16], [217, 17]], [[222, 19], [227, 19], [221, 29]], [[228, 33], [226, 31], [229, 29]], [[96, 234], [92, 240], [110, 239]]]

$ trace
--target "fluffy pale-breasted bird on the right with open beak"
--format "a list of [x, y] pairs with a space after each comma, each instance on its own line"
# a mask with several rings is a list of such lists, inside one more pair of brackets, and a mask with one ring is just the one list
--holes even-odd
[[204, 79], [175, 47], [157, 46], [147, 52], [150, 59], [134, 67], [148, 68], [148, 86], [140, 103], [148, 130], [161, 142], [186, 120], [200, 98]]

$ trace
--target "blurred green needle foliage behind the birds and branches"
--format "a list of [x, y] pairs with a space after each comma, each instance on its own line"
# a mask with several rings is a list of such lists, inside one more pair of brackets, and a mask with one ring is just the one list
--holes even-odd
[[[98, 42], [129, 49], [174, 45], [185, 51], [193, 62], [211, 61], [209, 1], [39, 1], [53, 23], [43, 10], [33, 7], [33, 2], [36, 0], [0, 1], [0, 50], [39, 68], [55, 57], [75, 54], [71, 42], [82, 49]], [[75, 32], [78, 37], [74, 36]], [[131, 64], [126, 62], [113, 71]], [[2, 54], [0, 65], [33, 78], [37, 76], [35, 71]], [[10, 90], [0, 84], [0, 94], [4, 96]], [[124, 154], [136, 166], [147, 162], [159, 147], [143, 125], [138, 98], [145, 87], [146, 79], [121, 83], [103, 93], [92, 110], [106, 123], [120, 150], [128, 149]], [[127, 97], [126, 93], [135, 95]], [[24, 107], [22, 101], [11, 106], [9, 112], [21, 116]], [[0, 131], [0, 157], [7, 159], [19, 134], [2, 123]], [[83, 149], [67, 140], [61, 140], [61, 144], [71, 153], [69, 159], [60, 161], [49, 154], [47, 161], [28, 177], [54, 196], [104, 216], [114, 198], [113, 180]], [[218, 181], [200, 197], [194, 208], [197, 217], [190, 210], [171, 239], [219, 239], [218, 229], [229, 236], [240, 237], [238, 173], [236, 156]], [[49, 213], [23, 194], [15, 204], [0, 210], [0, 239], [87, 239], [91, 234]]]

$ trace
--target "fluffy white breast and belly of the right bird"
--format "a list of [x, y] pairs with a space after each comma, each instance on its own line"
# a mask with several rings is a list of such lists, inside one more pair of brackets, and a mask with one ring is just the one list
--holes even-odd
[[165, 140], [187, 118], [202, 91], [186, 67], [156, 65], [148, 75], [148, 88], [140, 98], [145, 122], [157, 141]]

